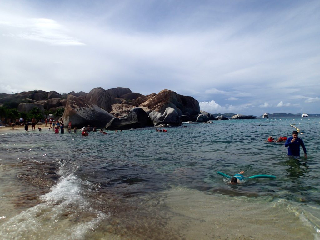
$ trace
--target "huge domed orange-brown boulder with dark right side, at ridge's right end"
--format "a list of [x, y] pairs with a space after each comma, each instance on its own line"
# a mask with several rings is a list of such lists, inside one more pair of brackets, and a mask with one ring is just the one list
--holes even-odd
[[162, 90], [139, 107], [164, 113], [166, 108], [173, 108], [179, 115], [197, 115], [200, 111], [199, 102], [193, 97], [183, 96], [170, 90]]

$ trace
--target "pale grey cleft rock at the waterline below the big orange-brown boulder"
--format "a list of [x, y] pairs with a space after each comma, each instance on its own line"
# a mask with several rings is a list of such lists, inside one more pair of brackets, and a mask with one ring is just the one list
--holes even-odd
[[152, 111], [149, 113], [149, 117], [155, 126], [161, 124], [168, 124], [170, 126], [182, 125], [181, 119], [174, 108], [167, 108], [165, 109], [164, 113]]

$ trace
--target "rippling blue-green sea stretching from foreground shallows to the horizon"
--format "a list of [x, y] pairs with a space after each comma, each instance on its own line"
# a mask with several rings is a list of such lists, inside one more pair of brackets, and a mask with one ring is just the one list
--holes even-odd
[[0, 132], [0, 239], [320, 239], [320, 117], [164, 129]]

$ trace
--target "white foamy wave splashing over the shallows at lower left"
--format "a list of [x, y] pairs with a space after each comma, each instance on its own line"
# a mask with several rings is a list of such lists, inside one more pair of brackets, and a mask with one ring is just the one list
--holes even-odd
[[1, 226], [3, 239], [85, 239], [85, 236], [109, 216], [94, 208], [87, 199], [81, 181], [73, 174], [60, 179], [37, 204], [6, 219]]

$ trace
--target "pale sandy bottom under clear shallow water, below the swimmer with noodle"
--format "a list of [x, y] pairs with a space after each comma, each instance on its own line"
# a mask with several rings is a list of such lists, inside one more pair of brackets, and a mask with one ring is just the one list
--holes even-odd
[[302, 209], [285, 200], [208, 195], [190, 189], [168, 192], [173, 228], [184, 239], [319, 239]]

